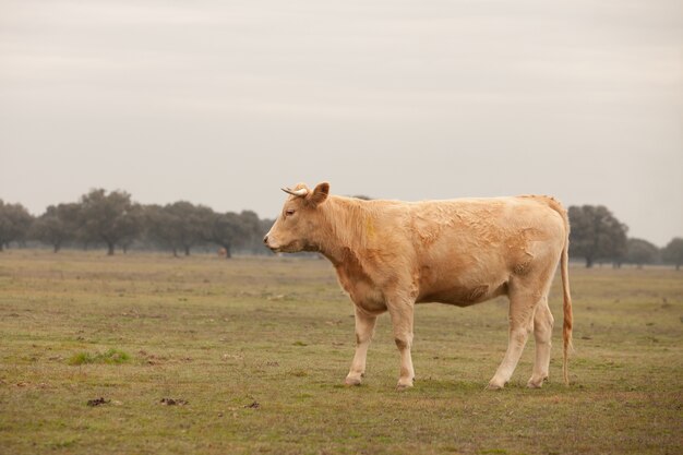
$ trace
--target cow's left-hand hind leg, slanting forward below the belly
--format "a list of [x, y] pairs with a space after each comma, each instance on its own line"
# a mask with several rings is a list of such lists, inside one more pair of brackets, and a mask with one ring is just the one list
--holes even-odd
[[489, 382], [488, 388], [490, 390], [503, 388], [512, 378], [529, 333], [534, 327], [534, 312], [542, 297], [542, 291], [538, 289], [538, 286], [525, 284], [520, 280], [512, 280], [508, 296], [510, 336], [507, 351]]

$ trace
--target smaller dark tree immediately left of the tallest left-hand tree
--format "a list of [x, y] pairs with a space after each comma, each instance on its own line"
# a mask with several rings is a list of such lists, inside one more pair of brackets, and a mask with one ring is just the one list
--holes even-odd
[[74, 240], [79, 231], [79, 204], [50, 205], [33, 223], [31, 238], [52, 246], [58, 252], [65, 241]]

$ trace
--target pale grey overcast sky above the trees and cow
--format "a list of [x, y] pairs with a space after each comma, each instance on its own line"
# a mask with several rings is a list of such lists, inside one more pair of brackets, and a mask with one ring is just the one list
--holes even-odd
[[683, 236], [680, 0], [0, 0], [0, 199], [543, 193]]

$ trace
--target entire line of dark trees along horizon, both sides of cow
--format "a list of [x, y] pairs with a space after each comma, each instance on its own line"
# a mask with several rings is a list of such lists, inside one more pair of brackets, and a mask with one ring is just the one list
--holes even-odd
[[[368, 199], [366, 196], [358, 196]], [[603, 205], [568, 208], [570, 256], [583, 259], [586, 267], [608, 263], [683, 264], [683, 238], [672, 239], [664, 248], [645, 239], [630, 238], [628, 227]], [[273, 225], [251, 211], [218, 213], [185, 201], [172, 204], [143, 205], [124, 191], [92, 190], [77, 202], [50, 205], [34, 217], [21, 204], [0, 200], [0, 251], [10, 243], [37, 241], [55, 252], [63, 247], [105, 247], [167, 250], [173, 255], [189, 255], [195, 248], [220, 248], [226, 258], [236, 250], [267, 254], [261, 239]]]

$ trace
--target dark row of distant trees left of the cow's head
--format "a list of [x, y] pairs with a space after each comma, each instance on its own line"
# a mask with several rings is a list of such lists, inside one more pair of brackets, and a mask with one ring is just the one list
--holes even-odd
[[166, 250], [190, 255], [192, 249], [216, 249], [226, 258], [236, 250], [267, 253], [263, 236], [273, 220], [251, 211], [214, 212], [187, 201], [139, 204], [124, 191], [92, 190], [77, 202], [50, 205], [34, 217], [21, 204], [0, 200], [0, 251], [10, 243], [37, 241], [57, 253], [64, 247]]

